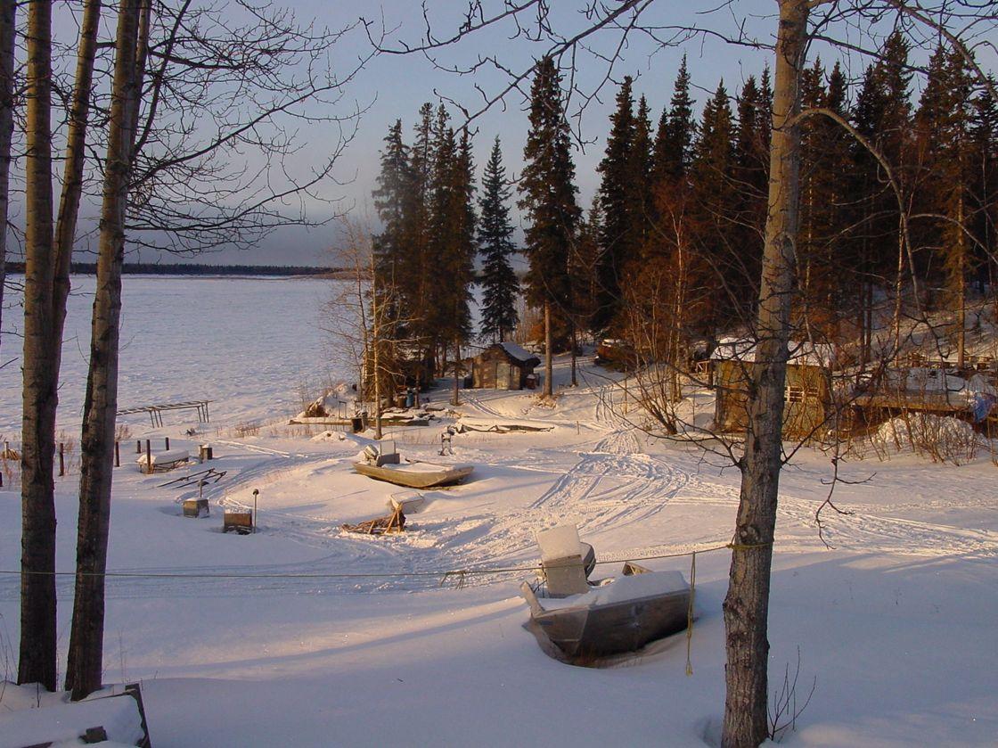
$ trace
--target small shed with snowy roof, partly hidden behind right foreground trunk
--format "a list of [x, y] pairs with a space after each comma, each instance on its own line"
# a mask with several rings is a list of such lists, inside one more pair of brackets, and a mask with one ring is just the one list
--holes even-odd
[[[829, 373], [832, 350], [809, 343], [788, 345], [784, 384], [783, 433], [803, 436], [820, 426], [831, 411]], [[755, 361], [755, 343], [723, 339], [711, 356], [717, 387], [714, 426], [721, 431], [742, 430], [748, 424], [749, 374]]]

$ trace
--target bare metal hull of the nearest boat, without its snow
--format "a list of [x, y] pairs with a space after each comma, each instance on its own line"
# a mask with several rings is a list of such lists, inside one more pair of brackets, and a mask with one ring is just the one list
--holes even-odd
[[684, 630], [690, 612], [690, 587], [685, 582], [676, 589], [605, 603], [587, 602], [592, 593], [573, 595], [579, 599], [565, 598], [559, 601], [563, 606], [552, 609], [544, 607], [550, 601], [539, 600], [528, 582], [521, 591], [533, 622], [568, 657], [636, 651]]

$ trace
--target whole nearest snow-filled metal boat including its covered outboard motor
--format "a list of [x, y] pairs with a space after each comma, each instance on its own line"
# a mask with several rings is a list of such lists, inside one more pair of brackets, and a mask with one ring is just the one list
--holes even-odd
[[633, 652], [687, 627], [690, 585], [681, 572], [628, 561], [621, 576], [589, 581], [595, 556], [575, 527], [539, 532], [537, 539], [543, 575], [520, 590], [535, 630], [567, 658]]

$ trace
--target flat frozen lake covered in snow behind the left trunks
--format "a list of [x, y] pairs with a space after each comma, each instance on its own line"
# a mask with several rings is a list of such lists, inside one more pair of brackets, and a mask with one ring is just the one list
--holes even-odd
[[[18, 279], [20, 280], [20, 279]], [[211, 399], [213, 425], [293, 414], [300, 390], [349, 377], [329, 362], [322, 307], [335, 282], [294, 278], [126, 276], [123, 284], [121, 407]], [[63, 344], [59, 426], [76, 431], [83, 410], [96, 279], [75, 276]], [[4, 328], [20, 332], [20, 296], [9, 294]], [[5, 336], [0, 358], [20, 357], [21, 339]], [[314, 395], [313, 395], [314, 396]], [[194, 419], [167, 413], [171, 424]], [[0, 436], [20, 441], [19, 361], [0, 370]], [[143, 415], [122, 419], [149, 427]]]

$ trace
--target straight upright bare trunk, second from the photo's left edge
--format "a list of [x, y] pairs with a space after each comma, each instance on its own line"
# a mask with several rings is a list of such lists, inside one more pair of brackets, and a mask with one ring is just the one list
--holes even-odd
[[58, 376], [52, 366], [52, 3], [28, 6], [25, 279], [21, 437], [21, 642], [18, 683], [56, 688]]

